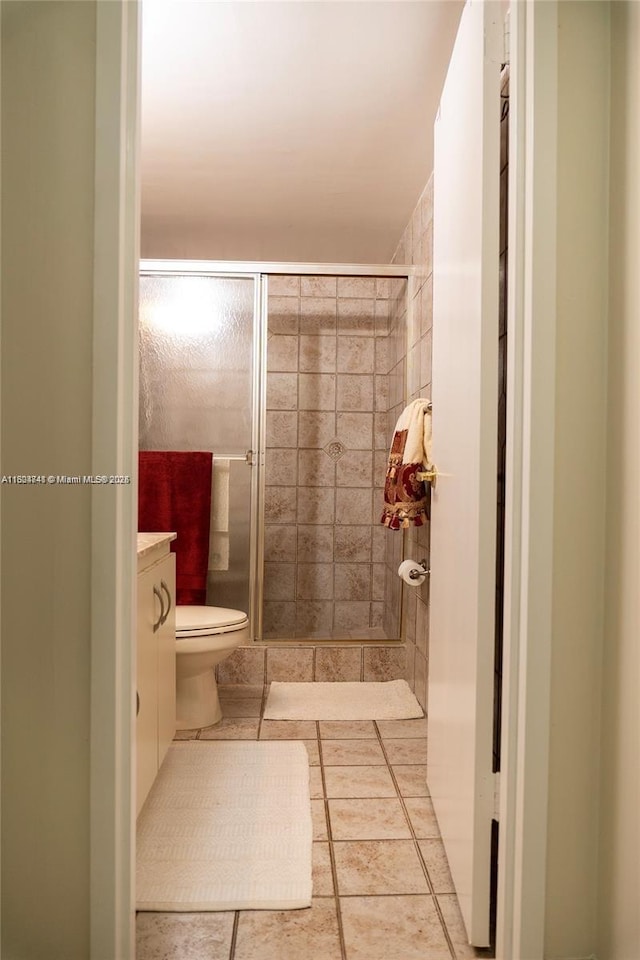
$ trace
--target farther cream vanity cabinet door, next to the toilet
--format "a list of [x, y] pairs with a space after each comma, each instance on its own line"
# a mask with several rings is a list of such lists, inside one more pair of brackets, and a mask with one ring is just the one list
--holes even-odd
[[[166, 620], [156, 633], [158, 652], [158, 767], [176, 732], [176, 558], [171, 553], [153, 568]], [[167, 608], [168, 613], [167, 613]]]

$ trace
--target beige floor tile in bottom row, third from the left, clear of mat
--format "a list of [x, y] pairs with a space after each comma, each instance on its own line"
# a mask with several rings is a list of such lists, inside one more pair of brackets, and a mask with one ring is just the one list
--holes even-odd
[[341, 897], [348, 960], [451, 960], [430, 896]]

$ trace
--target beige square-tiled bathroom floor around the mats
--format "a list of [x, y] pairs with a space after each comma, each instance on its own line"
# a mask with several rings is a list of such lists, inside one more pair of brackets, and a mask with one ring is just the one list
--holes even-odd
[[468, 960], [426, 787], [426, 720], [262, 720], [262, 688], [221, 687], [200, 740], [302, 740], [313, 808], [308, 910], [141, 913], [136, 960]]

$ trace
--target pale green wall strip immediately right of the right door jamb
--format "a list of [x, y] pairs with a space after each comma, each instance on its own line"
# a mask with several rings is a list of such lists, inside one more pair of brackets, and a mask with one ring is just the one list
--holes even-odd
[[[596, 937], [609, 7], [558, 4], [555, 499], [545, 958]], [[539, 464], [540, 470], [545, 464]]]

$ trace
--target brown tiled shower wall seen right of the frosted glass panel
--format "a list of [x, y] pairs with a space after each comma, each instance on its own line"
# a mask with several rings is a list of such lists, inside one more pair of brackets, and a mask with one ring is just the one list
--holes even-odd
[[265, 640], [399, 636], [379, 521], [398, 352], [390, 305], [405, 289], [388, 278], [270, 278]]

